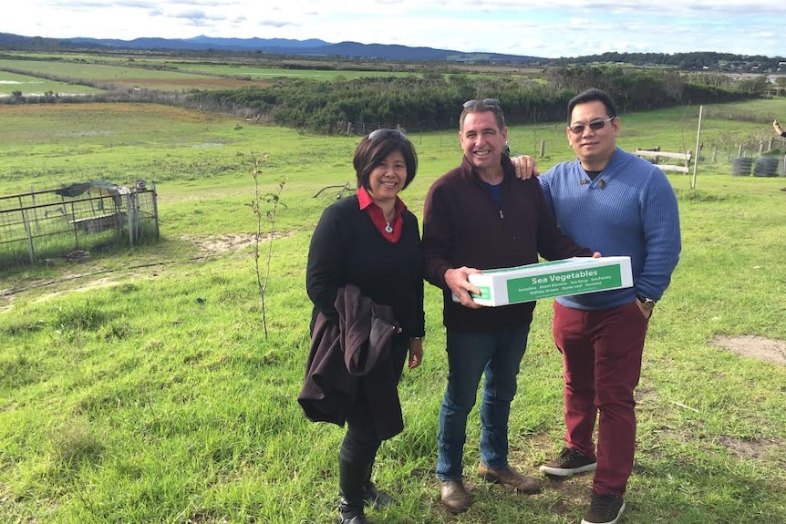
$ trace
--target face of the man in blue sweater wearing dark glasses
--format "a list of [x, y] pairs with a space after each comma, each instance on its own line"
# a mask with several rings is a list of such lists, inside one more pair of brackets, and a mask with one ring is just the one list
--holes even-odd
[[[616, 137], [619, 136], [619, 118], [609, 120], [606, 108], [600, 100], [593, 100], [584, 104], [576, 104], [571, 113], [570, 125], [567, 128], [568, 142], [582, 167], [588, 171], [603, 170], [611, 159], [616, 147]], [[604, 121], [604, 126], [593, 129], [590, 124]], [[574, 133], [573, 128], [581, 127], [580, 133]]]

